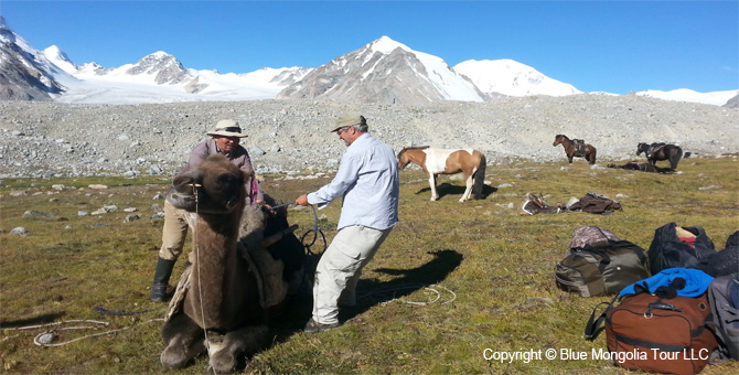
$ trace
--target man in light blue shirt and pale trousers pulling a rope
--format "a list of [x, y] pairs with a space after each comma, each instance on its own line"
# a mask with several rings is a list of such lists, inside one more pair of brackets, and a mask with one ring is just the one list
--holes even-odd
[[339, 306], [356, 304], [362, 269], [398, 222], [398, 162], [388, 144], [372, 137], [360, 114], [342, 115], [331, 132], [346, 144], [331, 183], [303, 194], [296, 204], [319, 208], [343, 197], [336, 236], [321, 256], [313, 285], [313, 317], [304, 332], [340, 325]]

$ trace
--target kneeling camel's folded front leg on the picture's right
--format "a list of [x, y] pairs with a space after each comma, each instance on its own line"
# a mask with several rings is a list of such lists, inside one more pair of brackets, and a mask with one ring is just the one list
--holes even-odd
[[226, 334], [208, 331], [207, 354], [211, 358], [208, 365], [216, 374], [233, 373], [245, 367], [246, 355], [264, 346], [267, 333], [267, 325], [245, 326]]

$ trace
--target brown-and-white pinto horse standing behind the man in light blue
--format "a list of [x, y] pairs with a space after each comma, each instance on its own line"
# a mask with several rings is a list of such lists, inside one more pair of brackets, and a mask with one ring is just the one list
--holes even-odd
[[431, 201], [439, 199], [436, 191], [436, 180], [439, 174], [454, 174], [462, 172], [467, 182], [467, 190], [459, 200], [464, 202], [482, 199], [482, 186], [485, 181], [485, 156], [472, 149], [435, 149], [428, 146], [407, 147], [398, 153], [399, 169], [406, 168], [414, 162], [420, 165], [429, 179], [431, 186]]

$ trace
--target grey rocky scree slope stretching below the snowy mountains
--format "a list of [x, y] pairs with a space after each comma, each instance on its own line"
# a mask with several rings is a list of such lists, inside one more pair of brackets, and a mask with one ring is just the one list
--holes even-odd
[[[565, 160], [558, 133], [582, 138], [598, 161], [636, 160], [636, 143], [676, 143], [694, 154], [739, 151], [739, 109], [635, 95], [531, 96], [489, 103], [351, 105], [255, 100], [156, 105], [0, 101], [0, 178], [173, 175], [218, 119], [249, 135], [242, 142], [257, 172], [334, 170], [344, 150], [329, 133], [357, 110], [397, 151], [409, 146], [475, 148], [489, 164]], [[582, 159], [576, 162], [585, 163]]]

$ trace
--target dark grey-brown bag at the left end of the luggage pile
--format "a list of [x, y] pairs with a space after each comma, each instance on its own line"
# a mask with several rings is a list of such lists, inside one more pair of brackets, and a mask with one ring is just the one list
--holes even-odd
[[581, 297], [615, 294], [651, 276], [643, 248], [610, 239], [571, 249], [555, 270], [557, 287]]

